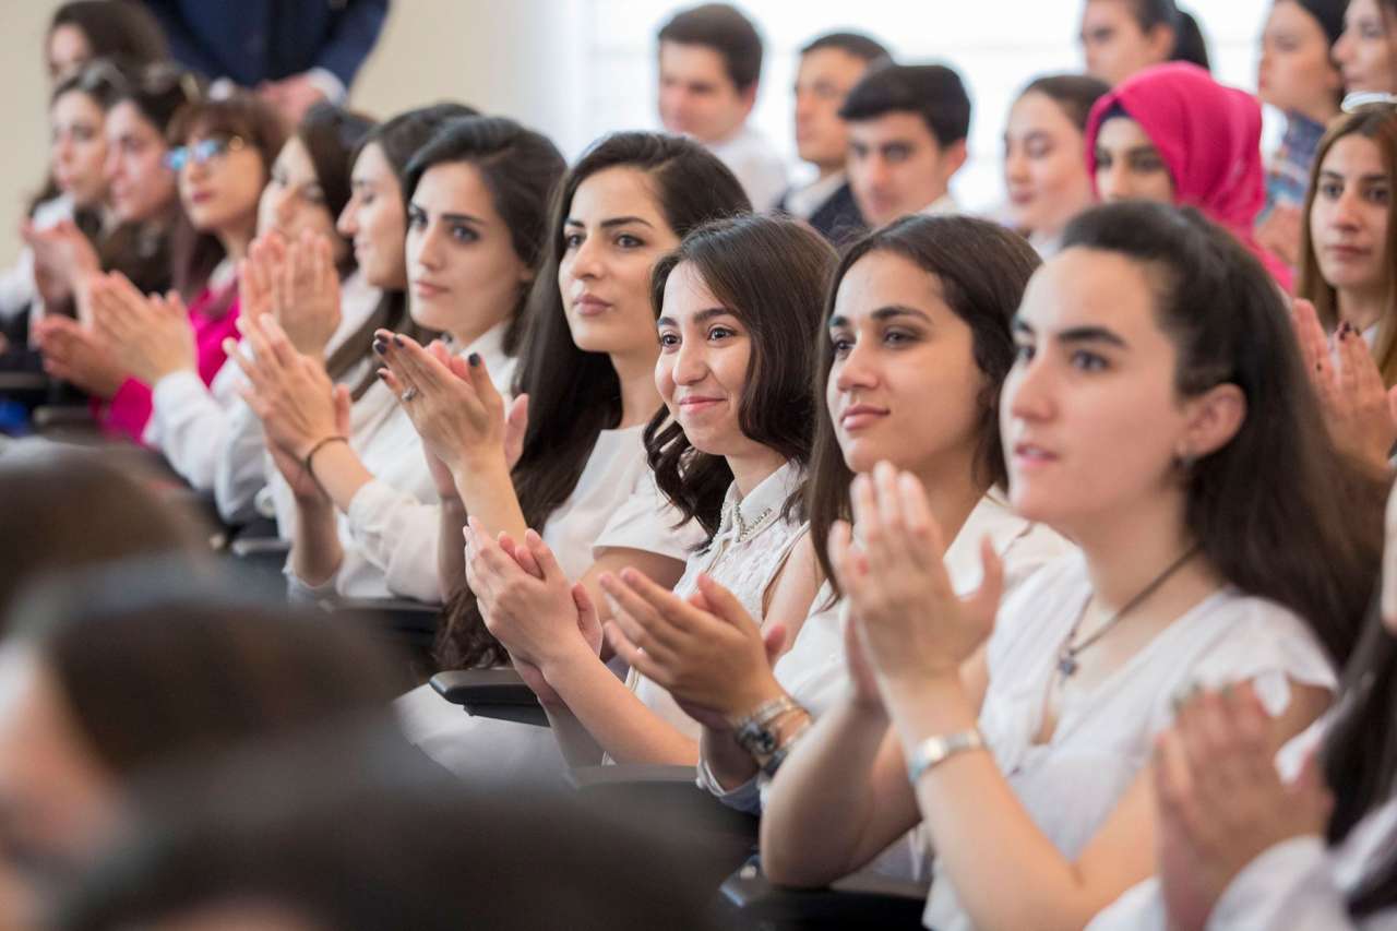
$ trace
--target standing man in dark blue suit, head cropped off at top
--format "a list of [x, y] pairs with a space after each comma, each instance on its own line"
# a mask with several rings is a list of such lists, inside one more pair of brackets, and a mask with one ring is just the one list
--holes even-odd
[[339, 102], [373, 50], [388, 0], [145, 0], [177, 62], [256, 88], [299, 122]]

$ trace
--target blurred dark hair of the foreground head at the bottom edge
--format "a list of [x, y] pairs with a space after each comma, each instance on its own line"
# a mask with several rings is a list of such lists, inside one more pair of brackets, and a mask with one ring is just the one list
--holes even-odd
[[165, 773], [137, 798], [127, 835], [45, 927], [115, 931], [239, 904], [334, 931], [715, 927], [721, 876], [672, 816], [661, 828], [659, 812], [465, 787], [390, 728]]

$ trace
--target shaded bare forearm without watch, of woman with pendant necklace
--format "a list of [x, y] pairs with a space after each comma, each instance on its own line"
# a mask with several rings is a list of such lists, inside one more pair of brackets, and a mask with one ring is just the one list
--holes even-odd
[[[916, 825], [911, 790], [901, 800], [879, 797], [876, 774], [887, 730], [880, 712], [844, 700], [787, 758], [761, 819], [761, 863], [774, 882], [828, 885]], [[894, 815], [894, 826], [872, 826], [880, 809]]]

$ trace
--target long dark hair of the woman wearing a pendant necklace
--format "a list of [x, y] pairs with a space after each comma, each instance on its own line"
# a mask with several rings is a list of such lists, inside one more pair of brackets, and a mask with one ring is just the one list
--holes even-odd
[[1095, 207], [1067, 225], [1071, 247], [1157, 273], [1180, 397], [1224, 383], [1246, 397], [1236, 436], [1185, 474], [1189, 534], [1222, 579], [1302, 616], [1345, 663], [1377, 577], [1386, 488], [1330, 440], [1275, 282], [1193, 208]]

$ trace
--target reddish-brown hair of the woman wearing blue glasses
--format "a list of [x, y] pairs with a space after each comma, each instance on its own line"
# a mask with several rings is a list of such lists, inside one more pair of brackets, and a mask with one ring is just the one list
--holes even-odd
[[[184, 145], [196, 136], [237, 136], [261, 157], [263, 183], [271, 175], [271, 164], [286, 141], [281, 116], [270, 103], [249, 92], [236, 92], [222, 99], [193, 103], [175, 117], [166, 133], [170, 145]], [[256, 205], [254, 205], [256, 211]], [[208, 287], [210, 275], [226, 253], [212, 232], [198, 231], [182, 215], [175, 226], [173, 240], [175, 289], [184, 301], [194, 301]], [[205, 316], [225, 313], [236, 295], [229, 288]]]

